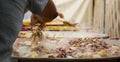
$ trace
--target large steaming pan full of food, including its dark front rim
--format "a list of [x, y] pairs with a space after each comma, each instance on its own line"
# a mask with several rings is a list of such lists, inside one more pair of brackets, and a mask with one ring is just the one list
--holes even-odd
[[47, 34], [38, 45], [31, 45], [29, 38], [18, 38], [12, 58], [19, 62], [120, 62], [120, 38]]

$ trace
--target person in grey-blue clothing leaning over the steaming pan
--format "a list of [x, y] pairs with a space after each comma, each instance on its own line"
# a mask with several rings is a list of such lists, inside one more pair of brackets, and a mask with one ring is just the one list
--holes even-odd
[[44, 25], [58, 16], [52, 0], [0, 0], [0, 62], [10, 62], [12, 45], [27, 10], [39, 17], [31, 21], [32, 25]]

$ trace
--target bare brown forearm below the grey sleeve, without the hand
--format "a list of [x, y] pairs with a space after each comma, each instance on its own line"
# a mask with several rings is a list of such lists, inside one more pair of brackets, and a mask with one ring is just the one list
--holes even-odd
[[58, 12], [53, 1], [49, 0], [43, 12], [35, 14], [35, 16], [44, 22], [49, 22], [56, 18], [58, 16]]

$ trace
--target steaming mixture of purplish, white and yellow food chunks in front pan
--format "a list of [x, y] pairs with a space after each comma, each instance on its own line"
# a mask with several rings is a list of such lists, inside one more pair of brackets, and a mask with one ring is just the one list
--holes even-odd
[[[107, 41], [107, 42], [106, 42]], [[32, 48], [29, 40], [14, 44], [14, 57], [27, 58], [102, 58], [120, 57], [120, 46], [95, 38], [44, 38]]]

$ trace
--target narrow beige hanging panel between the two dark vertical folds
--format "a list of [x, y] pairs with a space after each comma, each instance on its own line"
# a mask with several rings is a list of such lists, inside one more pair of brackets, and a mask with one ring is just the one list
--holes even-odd
[[103, 33], [104, 27], [104, 0], [94, 0], [93, 28], [99, 33]]

